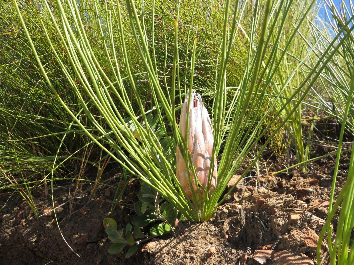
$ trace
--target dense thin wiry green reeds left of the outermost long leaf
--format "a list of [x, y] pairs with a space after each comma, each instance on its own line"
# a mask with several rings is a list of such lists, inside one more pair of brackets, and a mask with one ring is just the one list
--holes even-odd
[[[49, 176], [69, 179], [80, 175], [85, 164], [99, 167], [97, 153], [101, 150], [90, 145], [90, 138], [82, 134], [38, 72], [32, 53], [28, 53], [27, 37], [13, 2], [3, 2], [1, 7], [0, 189], [10, 194], [18, 192], [37, 214], [33, 189], [41, 186], [47, 193]], [[23, 7], [35, 45], [41, 50], [50, 49], [37, 27], [40, 23], [34, 15], [37, 8], [30, 2], [23, 2]], [[50, 19], [42, 17], [45, 21], [46, 18]], [[47, 30], [53, 30], [50, 26]], [[55, 83], [63, 100], [82, 114], [56, 60], [50, 54], [42, 54], [42, 59], [47, 61], [48, 72], [57, 77]], [[87, 129], [94, 130], [90, 120], [80, 114], [78, 117]]]

